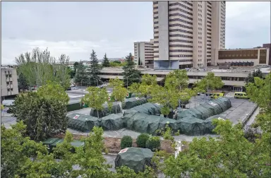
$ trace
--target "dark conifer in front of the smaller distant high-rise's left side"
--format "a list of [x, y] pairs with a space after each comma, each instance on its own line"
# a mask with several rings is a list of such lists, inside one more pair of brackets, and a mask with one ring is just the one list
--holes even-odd
[[133, 57], [131, 53], [126, 57], [126, 66], [124, 66], [123, 69], [124, 69], [123, 76], [124, 76], [124, 80], [126, 81], [124, 85], [127, 88], [128, 88], [128, 85], [131, 85], [132, 83], [140, 82], [140, 78], [141, 78], [140, 71], [135, 69], [135, 62], [133, 61]]

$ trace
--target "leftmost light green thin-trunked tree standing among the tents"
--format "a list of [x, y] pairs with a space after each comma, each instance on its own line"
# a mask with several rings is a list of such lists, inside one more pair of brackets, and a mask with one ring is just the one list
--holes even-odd
[[89, 87], [87, 88], [88, 93], [82, 98], [82, 102], [84, 102], [89, 107], [97, 110], [97, 116], [99, 118], [99, 111], [104, 109], [102, 106], [104, 102], [108, 100], [108, 93], [106, 88], [97, 88], [97, 87]]

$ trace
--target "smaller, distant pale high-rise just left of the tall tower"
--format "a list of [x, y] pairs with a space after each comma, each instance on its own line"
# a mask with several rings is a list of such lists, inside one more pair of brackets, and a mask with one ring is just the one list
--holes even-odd
[[153, 40], [150, 42], [134, 42], [135, 65], [153, 68]]

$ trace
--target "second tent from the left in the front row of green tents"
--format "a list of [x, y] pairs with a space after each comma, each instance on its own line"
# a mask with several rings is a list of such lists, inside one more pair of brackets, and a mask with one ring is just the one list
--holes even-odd
[[124, 119], [118, 114], [109, 114], [102, 117], [101, 126], [105, 131], [116, 131], [124, 127]]

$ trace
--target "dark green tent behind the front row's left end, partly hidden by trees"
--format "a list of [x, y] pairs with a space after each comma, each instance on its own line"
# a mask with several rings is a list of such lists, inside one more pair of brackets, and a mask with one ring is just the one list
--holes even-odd
[[119, 104], [114, 103], [112, 109], [109, 109], [107, 103], [105, 103], [104, 105], [102, 105], [104, 107], [104, 109], [102, 109], [101, 111], [97, 112], [96, 109], [91, 109], [90, 110], [90, 116], [92, 117], [98, 117], [98, 113], [99, 113], [99, 118], [101, 117], [105, 117], [109, 114], [118, 114], [121, 112], [121, 107], [119, 106]]

